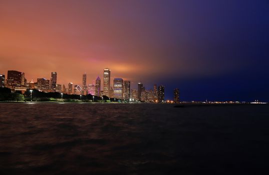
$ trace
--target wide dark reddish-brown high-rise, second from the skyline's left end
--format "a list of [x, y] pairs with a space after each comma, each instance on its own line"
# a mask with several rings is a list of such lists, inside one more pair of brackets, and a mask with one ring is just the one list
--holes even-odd
[[24, 85], [24, 76], [24, 72], [8, 70], [7, 86], [10, 88], [15, 88]]

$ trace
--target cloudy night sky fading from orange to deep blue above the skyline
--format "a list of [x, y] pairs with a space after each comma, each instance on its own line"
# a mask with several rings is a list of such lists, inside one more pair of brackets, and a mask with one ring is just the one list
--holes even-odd
[[269, 101], [269, 1], [0, 1], [0, 73], [67, 86], [106, 67], [166, 99]]

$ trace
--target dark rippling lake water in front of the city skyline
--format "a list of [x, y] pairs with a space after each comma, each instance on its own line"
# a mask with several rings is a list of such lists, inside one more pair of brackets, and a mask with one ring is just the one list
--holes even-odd
[[267, 104], [0, 103], [0, 174], [259, 174]]

